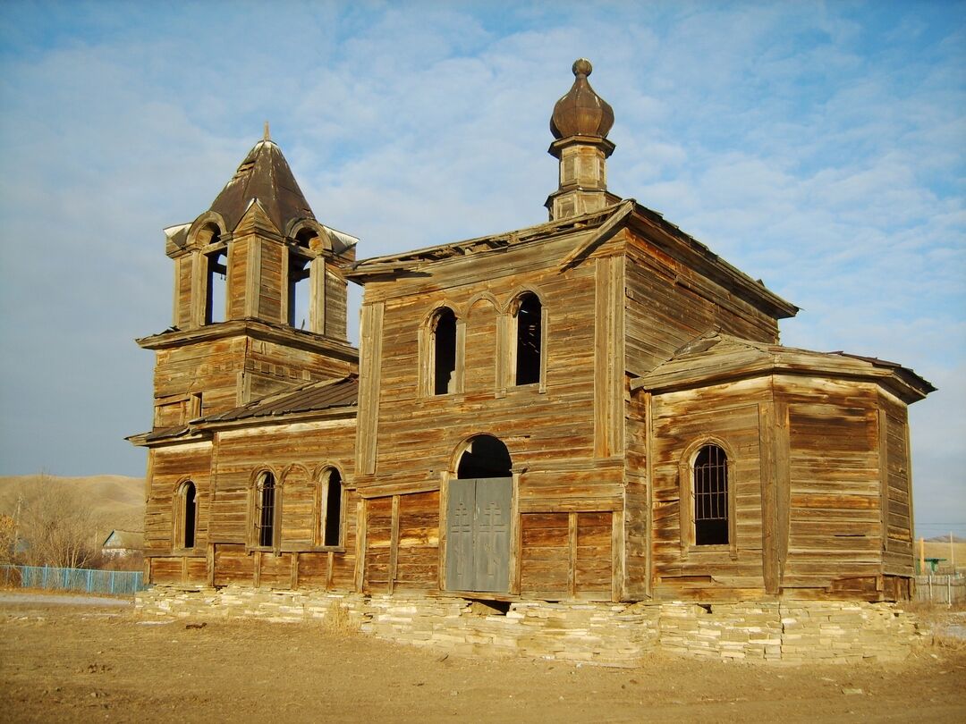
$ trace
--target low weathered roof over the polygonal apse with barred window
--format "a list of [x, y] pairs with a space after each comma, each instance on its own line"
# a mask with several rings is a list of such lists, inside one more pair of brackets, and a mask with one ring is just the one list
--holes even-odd
[[895, 362], [845, 352], [816, 352], [743, 340], [712, 330], [631, 383], [632, 390], [661, 393], [762, 375], [857, 378], [882, 384], [905, 403], [936, 388]]

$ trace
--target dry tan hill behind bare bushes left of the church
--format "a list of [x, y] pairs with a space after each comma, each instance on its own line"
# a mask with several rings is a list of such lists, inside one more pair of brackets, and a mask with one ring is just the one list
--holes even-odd
[[144, 530], [144, 479], [123, 475], [89, 475], [62, 478], [56, 475], [0, 476], [0, 514], [14, 515], [16, 500], [36, 494], [40, 487], [73, 487], [91, 504], [104, 529], [104, 538], [115, 528]]

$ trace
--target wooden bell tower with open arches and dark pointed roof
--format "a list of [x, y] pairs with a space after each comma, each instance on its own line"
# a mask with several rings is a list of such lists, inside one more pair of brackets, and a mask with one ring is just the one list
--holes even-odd
[[268, 124], [211, 207], [164, 234], [173, 323], [137, 341], [156, 351], [155, 430], [356, 372], [344, 270], [357, 239], [316, 219]]

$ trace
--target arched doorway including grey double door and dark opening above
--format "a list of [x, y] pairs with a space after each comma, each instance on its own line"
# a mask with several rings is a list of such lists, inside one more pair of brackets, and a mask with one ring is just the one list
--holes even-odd
[[446, 503], [446, 588], [510, 590], [513, 474], [506, 445], [492, 435], [469, 440], [449, 481]]

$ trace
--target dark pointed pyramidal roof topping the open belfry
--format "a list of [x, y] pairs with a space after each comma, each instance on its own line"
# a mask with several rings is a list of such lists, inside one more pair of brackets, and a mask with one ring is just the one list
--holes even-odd
[[211, 210], [220, 213], [228, 229], [233, 230], [254, 201], [283, 234], [293, 221], [315, 219], [288, 161], [269, 136], [268, 124], [265, 137], [241, 161], [235, 176], [212, 202]]

